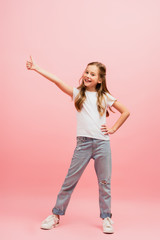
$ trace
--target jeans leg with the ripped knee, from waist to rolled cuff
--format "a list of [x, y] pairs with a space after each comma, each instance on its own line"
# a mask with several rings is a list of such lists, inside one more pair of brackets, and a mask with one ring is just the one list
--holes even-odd
[[111, 171], [112, 158], [109, 140], [95, 140], [94, 167], [99, 185], [100, 217], [112, 217], [111, 213]]

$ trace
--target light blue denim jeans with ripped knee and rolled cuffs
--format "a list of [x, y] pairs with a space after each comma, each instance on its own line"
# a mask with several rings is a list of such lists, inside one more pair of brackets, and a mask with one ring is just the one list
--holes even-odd
[[112, 217], [111, 213], [111, 171], [112, 158], [110, 140], [89, 137], [77, 137], [77, 145], [61, 190], [57, 196], [53, 214], [64, 215], [71, 194], [77, 185], [90, 159], [94, 160], [94, 168], [99, 185], [100, 218]]

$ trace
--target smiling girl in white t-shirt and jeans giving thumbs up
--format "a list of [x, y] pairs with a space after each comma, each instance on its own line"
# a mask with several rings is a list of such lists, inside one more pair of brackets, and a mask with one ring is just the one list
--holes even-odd
[[[103, 219], [103, 232], [114, 233], [111, 219], [112, 158], [109, 134], [115, 133], [130, 113], [108, 91], [105, 65], [100, 62], [89, 63], [77, 88], [68, 86], [55, 75], [40, 68], [31, 56], [26, 67], [55, 83], [74, 100], [77, 110], [77, 145], [67, 176], [57, 195], [52, 215], [42, 221], [41, 229], [51, 229], [59, 224], [60, 215], [65, 215], [71, 194], [92, 158], [99, 185], [99, 208], [100, 218]], [[109, 116], [108, 109], [112, 111], [111, 106], [117, 109], [121, 116], [113, 127], [108, 129], [105, 122], [106, 117]]]

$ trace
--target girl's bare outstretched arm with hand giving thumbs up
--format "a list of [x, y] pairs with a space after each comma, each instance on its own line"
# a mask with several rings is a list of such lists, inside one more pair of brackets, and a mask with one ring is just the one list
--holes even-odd
[[43, 77], [47, 78], [51, 82], [55, 83], [57, 87], [59, 87], [64, 93], [68, 94], [69, 96], [73, 96], [73, 87], [69, 86], [57, 76], [53, 75], [52, 73], [47, 72], [46, 70], [40, 68], [35, 61], [33, 60], [32, 56], [30, 56], [30, 61], [27, 61], [26, 67], [29, 70], [34, 70], [37, 73], [41, 74]]

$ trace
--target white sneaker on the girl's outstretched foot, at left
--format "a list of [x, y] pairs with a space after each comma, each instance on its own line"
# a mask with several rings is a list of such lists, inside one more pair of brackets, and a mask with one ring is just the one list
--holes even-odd
[[53, 227], [56, 227], [58, 224], [59, 218], [56, 215], [52, 214], [42, 221], [41, 229], [52, 229]]

